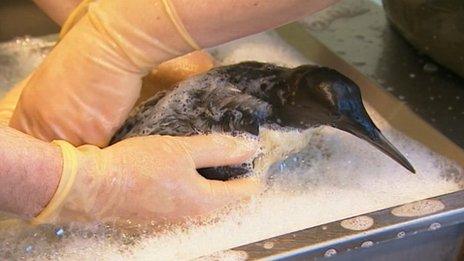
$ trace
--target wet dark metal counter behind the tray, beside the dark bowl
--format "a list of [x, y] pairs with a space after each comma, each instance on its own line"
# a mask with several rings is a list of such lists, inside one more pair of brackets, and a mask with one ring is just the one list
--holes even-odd
[[464, 79], [409, 45], [380, 5], [346, 0], [306, 22], [307, 31], [340, 59], [464, 147]]

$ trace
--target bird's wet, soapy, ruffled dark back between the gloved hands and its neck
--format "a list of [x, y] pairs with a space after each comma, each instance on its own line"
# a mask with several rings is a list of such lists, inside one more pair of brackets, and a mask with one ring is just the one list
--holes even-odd
[[[272, 106], [234, 72], [218, 67], [160, 92], [138, 106], [115, 134], [112, 143], [147, 135], [189, 136], [210, 132], [258, 134]], [[240, 73], [237, 71], [236, 73]]]

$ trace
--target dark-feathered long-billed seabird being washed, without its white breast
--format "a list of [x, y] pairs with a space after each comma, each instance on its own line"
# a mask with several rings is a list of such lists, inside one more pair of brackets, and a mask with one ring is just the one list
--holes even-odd
[[[369, 142], [415, 172], [370, 119], [359, 87], [333, 69], [314, 65], [285, 68], [243, 62], [211, 69], [141, 104], [111, 143], [154, 134], [188, 136], [215, 131], [257, 135], [263, 124], [299, 129], [332, 126]], [[205, 168], [199, 173], [227, 180], [245, 174], [246, 169]]]

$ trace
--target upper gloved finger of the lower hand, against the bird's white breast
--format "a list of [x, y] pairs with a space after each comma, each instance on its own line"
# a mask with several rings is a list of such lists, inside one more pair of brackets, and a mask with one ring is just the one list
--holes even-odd
[[217, 167], [240, 164], [252, 157], [258, 143], [224, 134], [176, 137], [192, 157], [195, 167]]

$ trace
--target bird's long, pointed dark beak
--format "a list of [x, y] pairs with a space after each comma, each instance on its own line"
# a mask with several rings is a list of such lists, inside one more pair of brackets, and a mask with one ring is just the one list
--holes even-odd
[[[369, 117], [366, 115], [366, 117]], [[406, 157], [401, 154], [380, 132], [380, 130], [374, 125], [372, 120], [366, 119], [362, 121], [362, 124], [351, 121], [349, 119], [343, 119], [335, 124], [336, 128], [349, 132], [356, 137], [369, 142], [371, 145], [388, 155], [390, 158], [401, 164], [407, 170], [412, 173], [416, 173], [414, 167], [409, 163]]]

